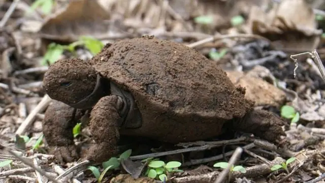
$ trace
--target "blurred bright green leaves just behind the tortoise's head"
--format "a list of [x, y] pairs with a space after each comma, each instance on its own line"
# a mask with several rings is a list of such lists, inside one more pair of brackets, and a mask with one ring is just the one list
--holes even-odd
[[95, 55], [103, 49], [104, 44], [101, 41], [89, 36], [81, 36], [78, 41], [73, 42], [69, 45], [51, 43], [47, 47], [47, 51], [42, 59], [41, 64], [44, 66], [47, 65], [47, 62], [49, 62], [49, 64], [53, 64], [62, 56], [65, 50], [75, 54], [75, 49], [77, 46], [85, 46], [92, 55]]

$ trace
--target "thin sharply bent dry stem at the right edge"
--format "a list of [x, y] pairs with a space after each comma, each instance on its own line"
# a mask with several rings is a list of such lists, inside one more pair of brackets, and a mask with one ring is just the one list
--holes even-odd
[[294, 69], [294, 77], [296, 78], [296, 70], [298, 68], [298, 59], [297, 58], [294, 58], [296, 56], [301, 56], [301, 55], [310, 55], [311, 58], [314, 60], [314, 63], [316, 64], [319, 72], [320, 72], [320, 75], [321, 75], [321, 78], [323, 79], [323, 81], [325, 81], [325, 68], [323, 66], [323, 64], [321, 63], [321, 59], [316, 51], [316, 49], [314, 49], [312, 52], [304, 52], [304, 53], [299, 53], [299, 54], [295, 54], [295, 55], [290, 55], [290, 58], [294, 60], [295, 62], [295, 69]]

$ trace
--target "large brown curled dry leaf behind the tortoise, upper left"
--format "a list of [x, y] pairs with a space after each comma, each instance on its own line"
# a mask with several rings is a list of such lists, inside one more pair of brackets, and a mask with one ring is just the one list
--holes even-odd
[[61, 42], [74, 42], [85, 35], [99, 38], [107, 35], [109, 19], [108, 12], [97, 1], [71, 1], [67, 7], [46, 18], [39, 34], [43, 39]]

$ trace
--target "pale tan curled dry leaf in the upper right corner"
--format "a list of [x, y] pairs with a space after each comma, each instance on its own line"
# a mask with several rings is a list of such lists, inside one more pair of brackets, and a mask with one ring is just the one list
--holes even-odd
[[284, 0], [269, 12], [254, 6], [249, 14], [247, 31], [276, 41], [279, 47], [313, 50], [322, 31], [312, 8], [304, 0]]

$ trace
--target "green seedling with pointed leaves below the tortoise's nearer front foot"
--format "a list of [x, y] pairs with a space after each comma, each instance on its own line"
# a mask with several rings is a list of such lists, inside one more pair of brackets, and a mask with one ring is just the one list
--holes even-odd
[[124, 153], [122, 153], [119, 156], [119, 158], [113, 157], [113, 158], [109, 159], [108, 161], [103, 162], [102, 166], [104, 168], [104, 171], [102, 173], [100, 173], [100, 170], [94, 166], [88, 166], [87, 169], [92, 172], [92, 174], [96, 177], [97, 182], [100, 183], [100, 182], [102, 182], [102, 180], [108, 170], [117, 169], [120, 166], [121, 160], [127, 159], [129, 156], [131, 156], [131, 153], [132, 153], [132, 149], [128, 149], [128, 150], [124, 151]]

